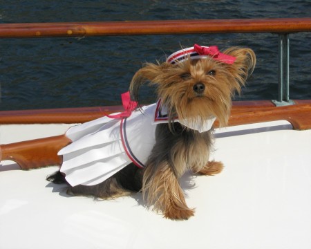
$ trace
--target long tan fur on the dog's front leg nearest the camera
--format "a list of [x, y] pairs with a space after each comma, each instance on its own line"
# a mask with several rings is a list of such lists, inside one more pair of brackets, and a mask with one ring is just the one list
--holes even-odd
[[168, 219], [189, 219], [194, 210], [188, 208], [178, 179], [167, 163], [162, 163], [154, 171], [147, 167], [144, 171], [142, 194], [148, 206], [162, 212]]

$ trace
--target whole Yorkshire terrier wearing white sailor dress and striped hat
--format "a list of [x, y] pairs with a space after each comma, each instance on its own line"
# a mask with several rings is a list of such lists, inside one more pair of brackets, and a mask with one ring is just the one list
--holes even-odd
[[[189, 219], [180, 177], [214, 175], [223, 163], [209, 161], [214, 120], [227, 124], [232, 96], [256, 63], [253, 50], [197, 44], [147, 63], [124, 94], [124, 113], [80, 124], [66, 136], [73, 142], [59, 151], [59, 172], [48, 181], [68, 183], [68, 193], [111, 199], [142, 192], [147, 207], [168, 219]], [[142, 84], [156, 86], [158, 102], [140, 107]], [[131, 99], [130, 97], [131, 96]]]

